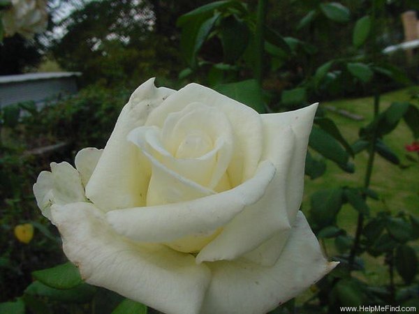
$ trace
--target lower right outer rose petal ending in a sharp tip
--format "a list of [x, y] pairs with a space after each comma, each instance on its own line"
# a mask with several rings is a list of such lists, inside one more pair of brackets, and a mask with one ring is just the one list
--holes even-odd
[[202, 313], [267, 313], [316, 283], [337, 264], [325, 259], [299, 212], [281, 257], [272, 267], [246, 260], [207, 263], [212, 281]]

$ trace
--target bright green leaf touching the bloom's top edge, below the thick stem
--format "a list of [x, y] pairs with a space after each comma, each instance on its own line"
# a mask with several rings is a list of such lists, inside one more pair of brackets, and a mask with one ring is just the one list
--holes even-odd
[[262, 91], [256, 80], [246, 80], [229, 84], [221, 84], [215, 87], [219, 93], [233, 98], [240, 103], [252, 107], [257, 112], [265, 112], [265, 102]]

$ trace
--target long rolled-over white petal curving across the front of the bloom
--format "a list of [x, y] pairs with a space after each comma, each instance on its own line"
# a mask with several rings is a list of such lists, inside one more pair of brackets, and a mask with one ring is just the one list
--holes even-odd
[[193, 234], [214, 232], [257, 202], [274, 177], [272, 163], [262, 163], [255, 176], [222, 193], [175, 204], [110, 211], [114, 230], [135, 241], [170, 242]]

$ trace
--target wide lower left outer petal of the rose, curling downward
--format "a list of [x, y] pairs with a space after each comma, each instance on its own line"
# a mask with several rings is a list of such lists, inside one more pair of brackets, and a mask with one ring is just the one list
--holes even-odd
[[210, 271], [192, 255], [119, 237], [93, 204], [54, 206], [64, 253], [87, 283], [106, 287], [168, 314], [198, 314]]

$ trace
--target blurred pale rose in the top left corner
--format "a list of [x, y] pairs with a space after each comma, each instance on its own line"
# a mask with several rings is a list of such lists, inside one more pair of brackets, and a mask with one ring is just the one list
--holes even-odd
[[20, 33], [32, 38], [45, 31], [48, 23], [46, 0], [11, 0], [11, 6], [3, 12], [3, 27], [8, 36]]

